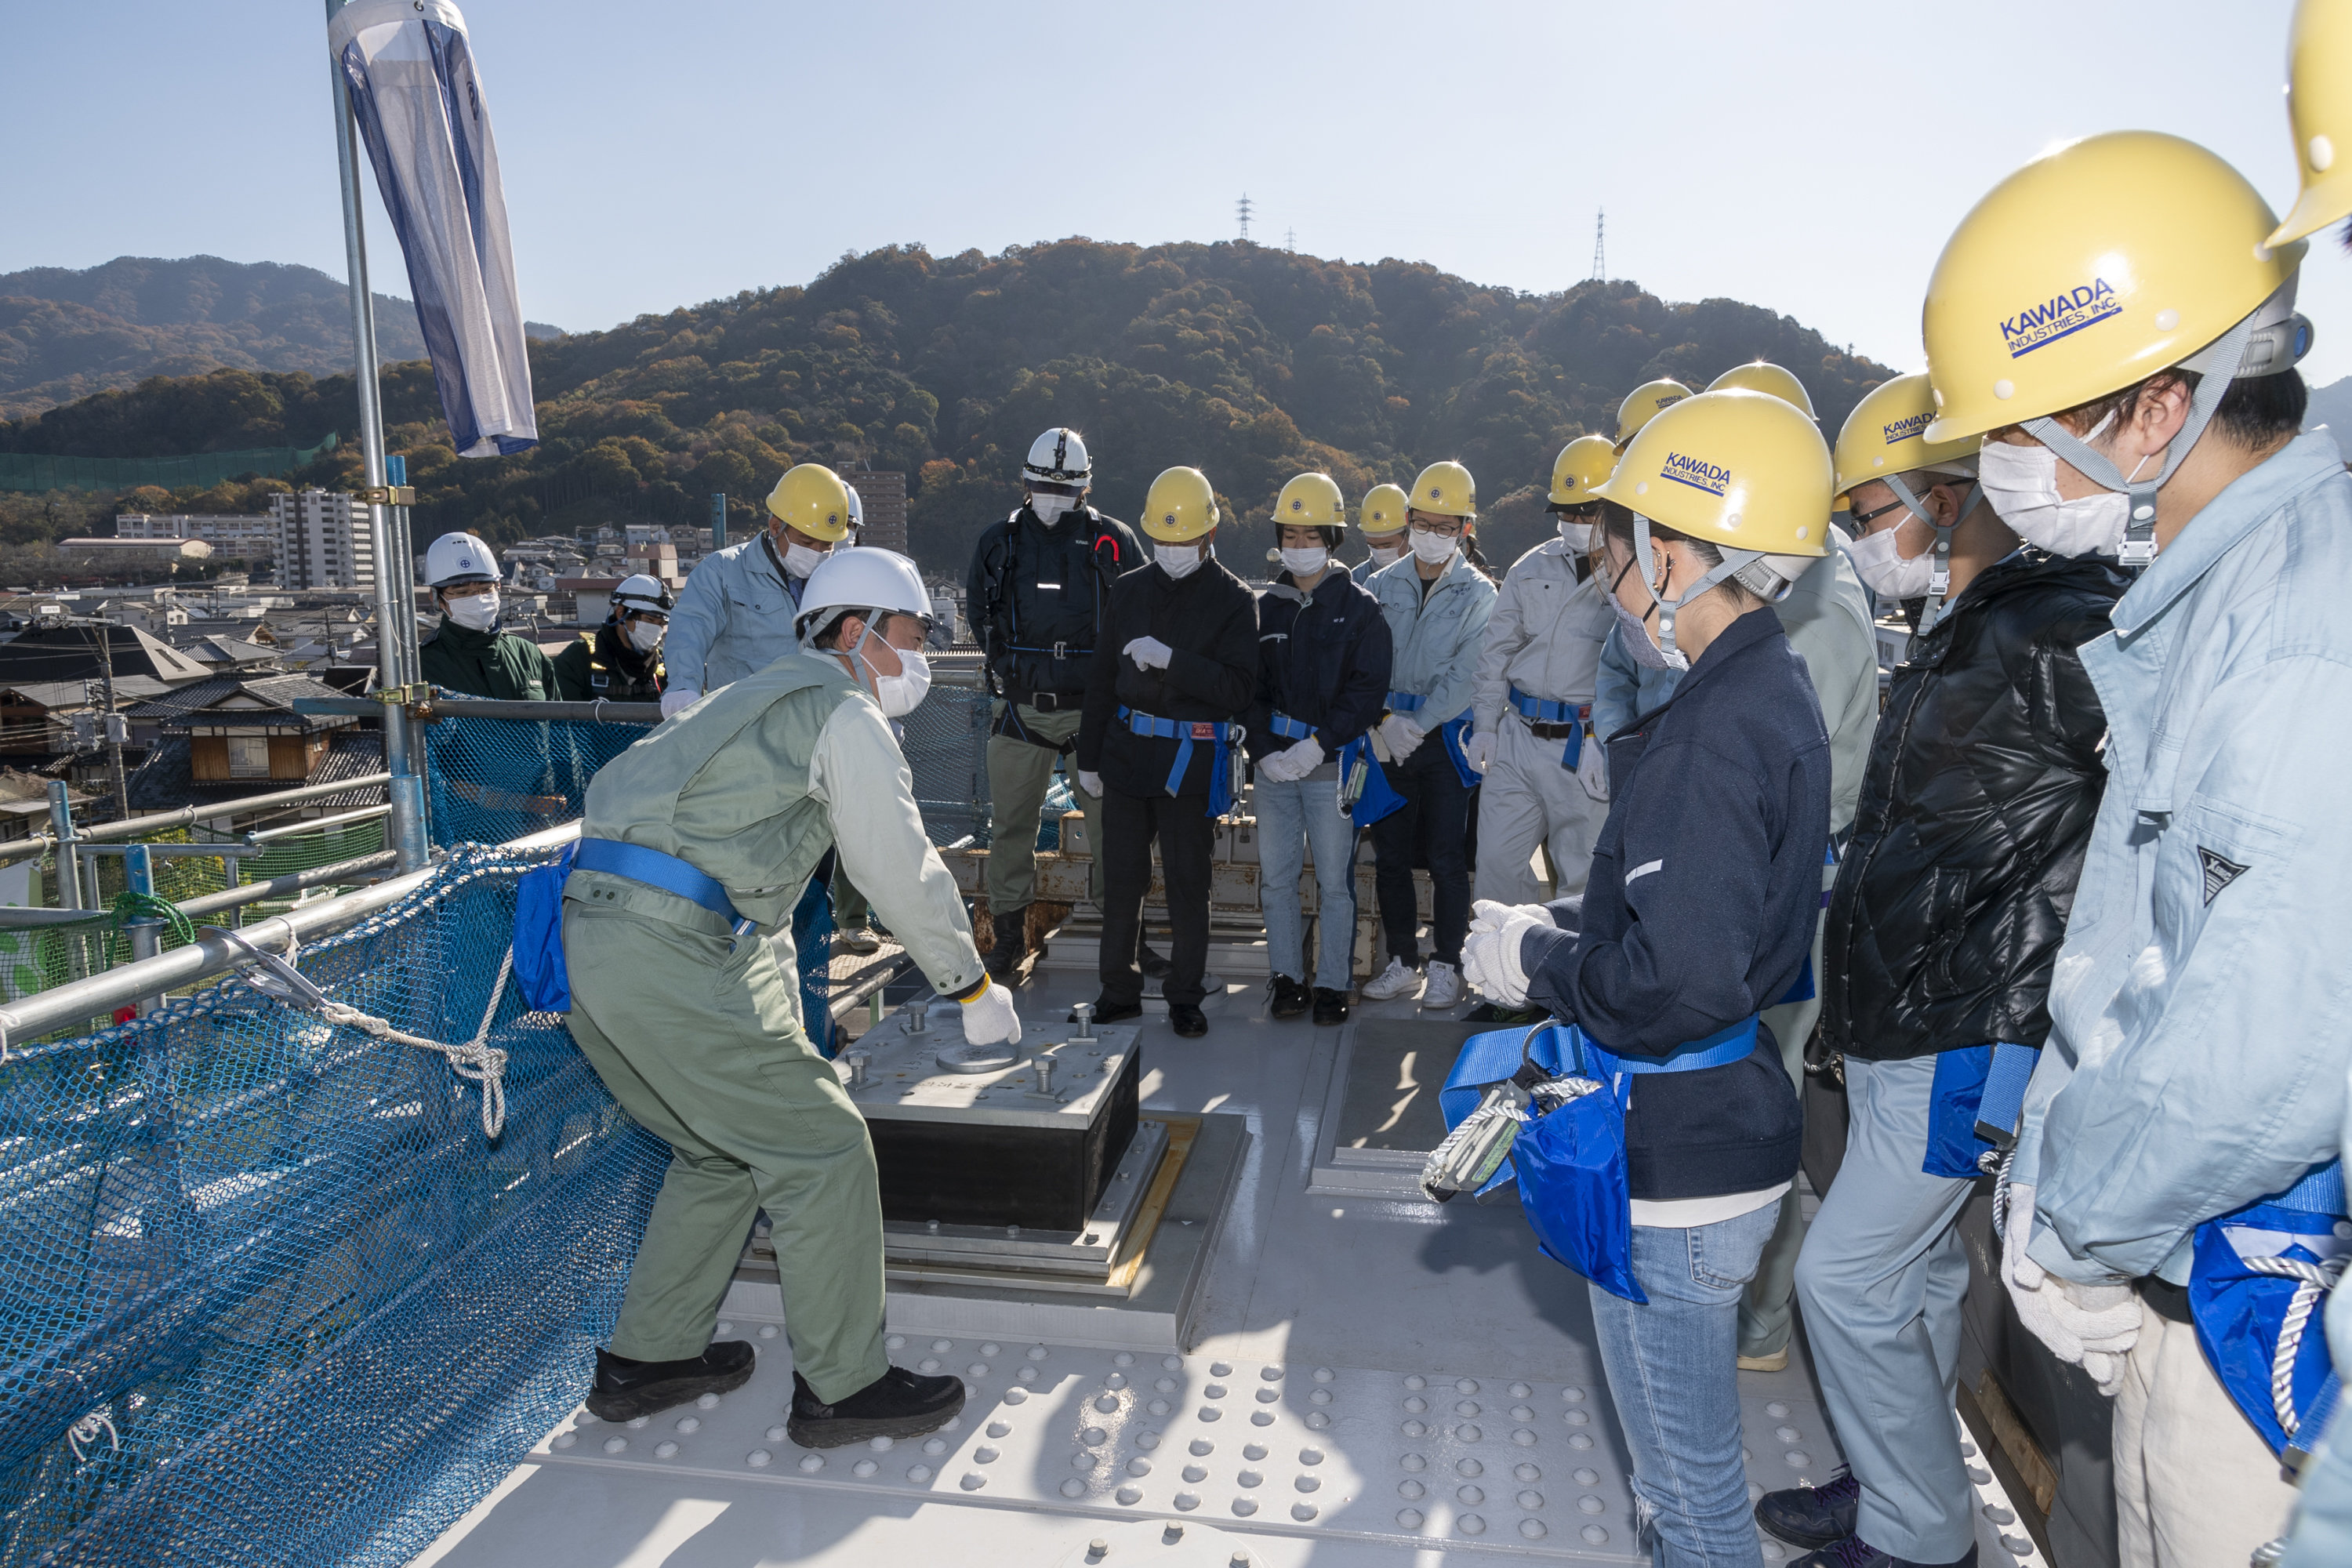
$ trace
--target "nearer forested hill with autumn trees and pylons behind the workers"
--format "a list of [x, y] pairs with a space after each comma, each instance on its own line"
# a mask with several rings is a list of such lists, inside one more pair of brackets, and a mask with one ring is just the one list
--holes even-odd
[[[1562, 442], [1613, 428], [1618, 400], [1649, 376], [1705, 386], [1755, 357], [1797, 371], [1830, 433], [1891, 374], [1771, 310], [1665, 303], [1632, 282], [1519, 294], [1411, 261], [1061, 240], [1000, 256], [889, 247], [807, 287], [534, 343], [543, 442], [513, 458], [454, 456], [421, 364], [388, 371], [383, 395], [421, 491], [421, 536], [701, 522], [710, 491], [750, 522], [786, 465], [816, 458], [906, 470], [915, 552], [960, 576], [971, 538], [1018, 503], [1030, 437], [1065, 423], [1094, 451], [1096, 505], [1129, 520], [1174, 463], [1207, 470], [1228, 512], [1263, 524], [1303, 468], [1327, 468], [1352, 503], [1454, 456], [1477, 475], [1501, 562], [1543, 529], [1529, 487]], [[308, 447], [327, 430], [348, 437], [353, 421], [348, 378], [219, 371], [0, 425], [0, 449]], [[289, 477], [350, 484], [355, 451], [346, 440]]]

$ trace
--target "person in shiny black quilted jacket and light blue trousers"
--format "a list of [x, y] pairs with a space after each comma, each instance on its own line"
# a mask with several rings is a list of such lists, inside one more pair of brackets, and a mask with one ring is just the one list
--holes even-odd
[[1851, 1537], [1879, 1563], [1955, 1563], [1976, 1540], [1959, 1429], [1917, 1413], [1952, 1406], [1959, 1213], [1997, 1154], [1978, 1124], [2016, 1131], [2107, 780], [2107, 719], [2074, 649], [2126, 588], [2110, 559], [2020, 550], [1976, 487], [1976, 437], [1929, 442], [1933, 416], [1929, 378], [1896, 376], [1837, 437], [1860, 578], [1924, 609], [1870, 748], [1823, 964], [1846, 1154], [1797, 1291], [1849, 1469], [1757, 1502], [1780, 1540]]

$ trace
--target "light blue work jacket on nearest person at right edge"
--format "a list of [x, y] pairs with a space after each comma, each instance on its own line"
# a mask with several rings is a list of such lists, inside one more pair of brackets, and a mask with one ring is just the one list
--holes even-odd
[[2187, 1279], [2199, 1222], [2336, 1154], [2352, 1060], [2352, 477], [2296, 437], [2082, 649], [2107, 795], [2013, 1180], [2030, 1253]]

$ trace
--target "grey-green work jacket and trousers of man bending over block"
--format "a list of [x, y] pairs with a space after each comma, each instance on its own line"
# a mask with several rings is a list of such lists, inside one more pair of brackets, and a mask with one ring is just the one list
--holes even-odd
[[873, 1143], [802, 1030], [788, 936], [826, 849], [943, 994], [981, 983], [889, 722], [833, 656], [776, 661], [604, 764], [581, 832], [691, 863], [760, 926], [736, 938], [710, 910], [612, 872], [564, 884], [572, 1037], [675, 1150], [612, 1349], [699, 1356], [764, 1208], [793, 1366], [821, 1399], [847, 1399], [889, 1361]]

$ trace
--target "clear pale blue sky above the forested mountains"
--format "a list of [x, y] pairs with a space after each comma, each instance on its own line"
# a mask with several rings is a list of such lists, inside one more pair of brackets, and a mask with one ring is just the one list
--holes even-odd
[[[2053, 141], [2169, 129], [2293, 197], [2288, 0], [463, 9], [524, 308], [572, 329], [894, 240], [1225, 237], [1247, 190], [1261, 242], [1538, 292], [1606, 207], [1613, 277], [1917, 367], [1952, 223]], [[7, 40], [0, 270], [341, 273], [318, 5], [16, 5]], [[2333, 240], [2303, 308], [2312, 381], [2352, 374]]]

